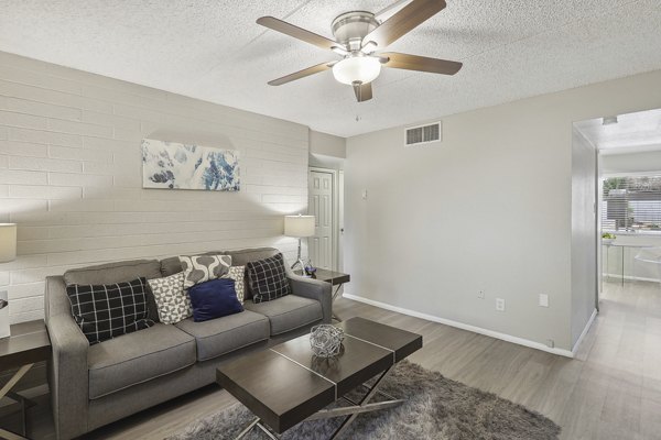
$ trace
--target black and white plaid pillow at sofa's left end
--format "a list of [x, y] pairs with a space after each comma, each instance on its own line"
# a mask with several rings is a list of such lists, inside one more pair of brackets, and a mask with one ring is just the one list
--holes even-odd
[[147, 279], [132, 282], [67, 286], [72, 315], [90, 344], [147, 329]]

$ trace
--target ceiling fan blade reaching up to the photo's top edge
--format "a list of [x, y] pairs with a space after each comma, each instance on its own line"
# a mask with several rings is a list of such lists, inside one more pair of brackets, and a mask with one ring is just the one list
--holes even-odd
[[413, 0], [362, 38], [361, 46], [375, 42], [380, 48], [445, 9], [445, 0]]

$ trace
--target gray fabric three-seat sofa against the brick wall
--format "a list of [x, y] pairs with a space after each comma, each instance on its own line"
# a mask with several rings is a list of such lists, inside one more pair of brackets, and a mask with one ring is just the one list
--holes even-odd
[[[232, 265], [272, 256], [271, 248], [209, 252], [232, 255]], [[72, 270], [46, 278], [45, 321], [53, 359], [50, 387], [58, 439], [71, 439], [215, 382], [216, 367], [248, 351], [303, 334], [330, 322], [330, 285], [294, 275], [293, 295], [253, 304], [245, 311], [205, 322], [188, 318], [89, 345], [72, 318], [67, 284], [120, 283], [180, 272], [177, 257], [140, 260]], [[150, 318], [158, 320], [155, 302]]]

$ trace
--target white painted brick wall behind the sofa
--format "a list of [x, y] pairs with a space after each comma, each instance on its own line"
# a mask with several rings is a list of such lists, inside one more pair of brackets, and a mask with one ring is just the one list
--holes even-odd
[[[241, 191], [142, 189], [143, 138], [240, 151]], [[0, 264], [12, 322], [43, 317], [44, 277], [109, 261], [274, 245], [306, 209], [308, 129], [0, 52]]]

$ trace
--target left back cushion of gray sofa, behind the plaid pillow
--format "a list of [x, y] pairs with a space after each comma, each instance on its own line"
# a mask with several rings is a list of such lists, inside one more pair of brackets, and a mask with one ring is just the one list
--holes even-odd
[[[106, 263], [95, 266], [72, 268], [64, 273], [64, 284], [101, 285], [126, 283], [136, 278], [160, 278], [161, 265], [158, 260], [129, 260], [116, 263]], [[147, 288], [148, 317], [159, 321], [159, 309], [151, 292]]]

